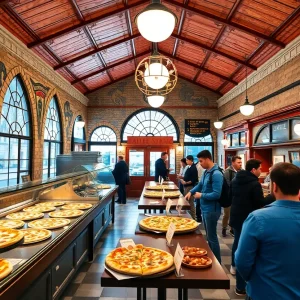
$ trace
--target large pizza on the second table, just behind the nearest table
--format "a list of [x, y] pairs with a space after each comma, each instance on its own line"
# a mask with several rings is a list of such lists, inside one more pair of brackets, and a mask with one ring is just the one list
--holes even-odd
[[193, 219], [172, 216], [152, 216], [141, 220], [139, 225], [146, 230], [167, 232], [171, 222], [175, 224], [175, 232], [195, 230], [199, 226]]

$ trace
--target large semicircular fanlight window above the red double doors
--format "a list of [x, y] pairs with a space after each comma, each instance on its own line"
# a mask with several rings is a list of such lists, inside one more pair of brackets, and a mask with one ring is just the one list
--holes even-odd
[[172, 136], [178, 142], [179, 131], [176, 122], [166, 112], [158, 109], [142, 109], [125, 121], [121, 140], [128, 136]]

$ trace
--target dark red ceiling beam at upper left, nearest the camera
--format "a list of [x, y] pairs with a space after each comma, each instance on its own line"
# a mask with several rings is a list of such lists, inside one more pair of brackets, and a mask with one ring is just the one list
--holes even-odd
[[81, 29], [81, 28], [84, 27], [84, 26], [88, 26], [88, 25], [90, 25], [90, 24], [93, 24], [93, 23], [97, 23], [97, 22], [103, 21], [103, 20], [105, 20], [105, 19], [107, 19], [107, 18], [109, 18], [109, 17], [111, 17], [111, 16], [113, 16], [113, 15], [123, 13], [123, 12], [125, 12], [126, 10], [128, 10], [128, 9], [130, 9], [130, 8], [137, 7], [137, 6], [141, 5], [141, 4], [145, 4], [145, 1], [144, 1], [144, 0], [139, 0], [139, 1], [135, 2], [135, 3], [128, 4], [128, 5], [126, 5], [126, 6], [124, 6], [124, 7], [121, 7], [121, 8], [117, 8], [117, 9], [115, 9], [115, 10], [109, 12], [109, 13], [103, 14], [103, 15], [101, 15], [101, 16], [98, 16], [98, 17], [95, 17], [95, 18], [92, 18], [92, 19], [89, 19], [89, 20], [85, 20], [85, 21], [83, 21], [83, 22], [80, 22], [80, 23], [77, 24], [77, 25], [74, 25], [74, 26], [72, 26], [72, 27], [63, 29], [63, 30], [58, 31], [58, 32], [56, 32], [56, 33], [54, 33], [54, 34], [50, 34], [50, 35], [48, 35], [48, 36], [46, 36], [46, 37], [44, 37], [44, 38], [41, 38], [41, 39], [39, 39], [39, 40], [36, 41], [36, 42], [29, 43], [29, 44], [27, 45], [27, 47], [28, 47], [28, 48], [37, 47], [37, 46], [39, 46], [39, 45], [41, 45], [41, 44], [44, 44], [44, 43], [46, 43], [46, 42], [49, 42], [49, 41], [51, 41], [51, 40], [53, 40], [53, 39], [56, 39], [56, 38], [58, 38], [58, 37], [61, 37], [62, 35], [65, 35], [65, 34], [68, 34], [68, 33], [70, 33], [70, 32], [73, 32], [73, 31], [75, 31], [75, 30]]

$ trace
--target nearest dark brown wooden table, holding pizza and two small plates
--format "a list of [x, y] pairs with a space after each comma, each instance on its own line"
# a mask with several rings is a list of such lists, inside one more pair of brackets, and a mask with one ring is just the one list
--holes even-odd
[[[101, 286], [103, 287], [136, 287], [137, 300], [146, 300], [146, 289], [157, 288], [157, 299], [166, 300], [166, 289], [178, 289], [178, 299], [188, 300], [188, 289], [229, 289], [230, 280], [222, 266], [213, 255], [207, 242], [200, 234], [176, 235], [173, 238], [174, 247], [168, 247], [166, 239], [160, 236], [137, 235], [134, 237], [136, 244], [155, 247], [174, 255], [177, 243], [181, 246], [201, 247], [207, 250], [207, 255], [212, 259], [212, 266], [207, 269], [182, 268], [183, 277], [176, 277], [172, 272], [169, 275], [158, 278], [132, 278], [117, 280], [107, 270], [101, 275]], [[118, 244], [119, 245], [119, 244]]]

